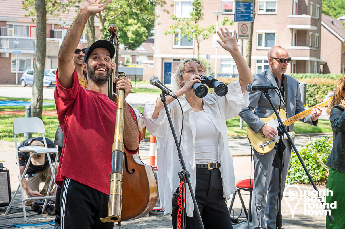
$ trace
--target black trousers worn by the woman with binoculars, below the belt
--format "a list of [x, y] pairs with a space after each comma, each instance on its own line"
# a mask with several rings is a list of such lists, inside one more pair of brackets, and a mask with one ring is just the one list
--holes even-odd
[[[223, 181], [218, 169], [197, 169], [195, 198], [205, 229], [232, 229], [233, 224], [226, 206]], [[186, 217], [186, 229], [200, 229], [195, 209], [193, 217]], [[176, 226], [176, 217], [172, 217], [172, 226]]]

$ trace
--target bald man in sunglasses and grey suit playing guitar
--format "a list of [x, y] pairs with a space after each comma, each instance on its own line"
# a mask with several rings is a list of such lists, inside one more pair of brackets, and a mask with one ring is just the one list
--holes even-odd
[[[287, 117], [305, 111], [301, 101], [298, 80], [285, 75], [288, 64], [291, 61], [289, 54], [280, 46], [273, 46], [268, 51], [269, 69], [254, 75], [254, 85], [276, 86], [281, 94], [282, 102], [280, 109], [284, 109]], [[269, 91], [271, 100], [276, 109], [279, 108], [279, 96], [273, 90]], [[253, 110], [255, 112], [253, 113]], [[312, 114], [300, 119], [302, 122], [317, 126], [318, 117], [322, 108], [313, 110]], [[273, 114], [272, 107], [268, 103], [264, 93], [255, 91], [249, 93], [249, 107], [242, 109], [239, 115], [253, 129], [255, 133], [261, 131], [269, 139], [275, 137], [278, 132], [275, 128], [267, 126], [260, 118], [267, 118]], [[288, 131], [294, 131], [294, 124], [288, 126]], [[282, 190], [284, 191], [287, 170], [290, 166], [291, 145], [284, 140], [286, 150], [283, 160]], [[254, 149], [253, 149], [254, 150]], [[254, 186], [252, 192], [252, 220], [254, 229], [275, 229], [278, 200], [279, 170], [272, 166], [276, 150], [267, 154], [259, 154], [254, 150]], [[266, 201], [266, 193], [267, 201]], [[282, 191], [282, 194], [283, 194]]]

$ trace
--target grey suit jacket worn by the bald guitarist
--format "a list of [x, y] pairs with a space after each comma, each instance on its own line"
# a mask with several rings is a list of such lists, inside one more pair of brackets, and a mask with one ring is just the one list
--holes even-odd
[[[254, 75], [254, 85], [272, 85], [278, 87], [274, 75], [270, 69]], [[281, 102], [280, 109], [284, 109], [287, 113], [287, 118], [294, 116], [302, 111], [305, 111], [304, 104], [301, 101], [301, 95], [299, 91], [298, 80], [295, 78], [285, 75], [284, 81], [285, 101]], [[276, 90], [269, 90], [271, 100], [275, 105], [276, 109], [279, 109], [279, 95]], [[283, 100], [283, 97], [282, 97]], [[253, 110], [255, 112], [253, 113]], [[254, 91], [249, 93], [249, 106], [242, 109], [239, 115], [247, 123], [247, 125], [257, 133], [265, 124], [260, 118], [267, 118], [273, 114], [273, 110], [264, 93], [261, 91]], [[312, 121], [312, 115], [308, 115], [300, 121], [309, 123], [317, 126], [317, 120]], [[294, 124], [288, 126], [288, 131], [294, 131]]]

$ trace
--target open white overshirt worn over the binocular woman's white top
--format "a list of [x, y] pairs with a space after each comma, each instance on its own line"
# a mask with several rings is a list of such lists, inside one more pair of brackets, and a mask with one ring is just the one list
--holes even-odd
[[[230, 199], [231, 193], [236, 191], [233, 159], [228, 147], [228, 132], [226, 119], [235, 117], [242, 108], [249, 106], [248, 92], [242, 93], [239, 80], [227, 85], [229, 92], [223, 97], [215, 93], [207, 94], [203, 98], [204, 111], [213, 120], [214, 125], [220, 132], [219, 139], [219, 163], [220, 173], [223, 179], [223, 191], [226, 200]], [[172, 137], [165, 109], [162, 109], [157, 119], [151, 118], [155, 110], [156, 101], [146, 102], [144, 108], [144, 121], [148, 132], [157, 139], [157, 164], [158, 164], [158, 190], [165, 209], [164, 214], [172, 213], [172, 194], [179, 186], [178, 173], [182, 170], [178, 159], [174, 138]], [[191, 107], [183, 96], [180, 100], [184, 113], [184, 125], [181, 139], [181, 152], [184, 157], [186, 168], [190, 173], [190, 183], [195, 194], [196, 162], [195, 162], [195, 136], [196, 126], [191, 112]], [[176, 100], [168, 104], [168, 110], [175, 128], [176, 136], [180, 136], [182, 124], [181, 108]], [[186, 185], [187, 215], [193, 216], [194, 204], [191, 199], [188, 185]]]

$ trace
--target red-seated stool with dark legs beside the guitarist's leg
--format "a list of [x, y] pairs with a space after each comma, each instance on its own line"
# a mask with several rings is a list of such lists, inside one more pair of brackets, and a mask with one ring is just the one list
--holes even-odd
[[[239, 199], [241, 200], [242, 203], [242, 208], [244, 210], [244, 213], [246, 214], [246, 218], [249, 222], [252, 222], [252, 190], [253, 190], [253, 183], [254, 180], [253, 179], [245, 179], [245, 180], [240, 180], [236, 183], [236, 188], [237, 188], [237, 193], [239, 196]], [[242, 199], [242, 195], [241, 195], [241, 191], [240, 190], [245, 190], [245, 191], [249, 191], [249, 214], [247, 212], [246, 206], [244, 205], [243, 199]], [[229, 208], [229, 213], [231, 214], [231, 211], [233, 210], [233, 204], [234, 204], [234, 200], [236, 197], [236, 192], [234, 193], [233, 199], [231, 200], [231, 204], [230, 204], [230, 208]], [[239, 218], [240, 216], [238, 216]], [[237, 219], [238, 219], [237, 218]]]

